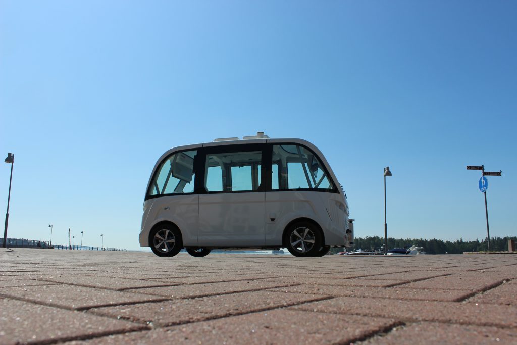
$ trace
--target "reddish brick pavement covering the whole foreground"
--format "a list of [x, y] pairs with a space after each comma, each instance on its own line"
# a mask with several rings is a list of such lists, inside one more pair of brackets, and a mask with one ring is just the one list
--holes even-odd
[[0, 250], [1, 344], [515, 344], [517, 256]]

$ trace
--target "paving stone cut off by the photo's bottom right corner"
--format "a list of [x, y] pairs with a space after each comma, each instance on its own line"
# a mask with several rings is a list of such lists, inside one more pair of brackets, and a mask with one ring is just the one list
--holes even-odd
[[516, 328], [482, 327], [458, 324], [422, 322], [397, 327], [385, 336], [375, 336], [362, 345], [514, 345]]

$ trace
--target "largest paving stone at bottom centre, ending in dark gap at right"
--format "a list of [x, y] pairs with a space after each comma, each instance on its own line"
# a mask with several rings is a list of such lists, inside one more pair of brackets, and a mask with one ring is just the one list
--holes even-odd
[[335, 344], [384, 332], [396, 321], [285, 309], [93, 339], [75, 344]]

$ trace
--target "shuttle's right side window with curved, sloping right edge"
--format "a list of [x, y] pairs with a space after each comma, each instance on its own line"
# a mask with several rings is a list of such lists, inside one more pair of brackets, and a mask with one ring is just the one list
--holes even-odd
[[316, 155], [299, 145], [273, 145], [271, 189], [333, 190]]

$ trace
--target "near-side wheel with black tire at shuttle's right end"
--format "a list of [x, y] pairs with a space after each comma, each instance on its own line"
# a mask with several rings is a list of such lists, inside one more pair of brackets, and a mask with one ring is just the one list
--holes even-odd
[[323, 246], [320, 228], [308, 221], [292, 224], [284, 233], [284, 244], [295, 257], [314, 257]]

